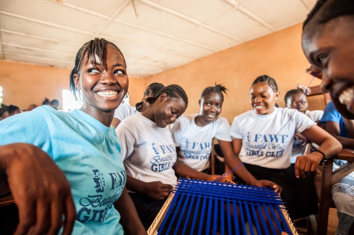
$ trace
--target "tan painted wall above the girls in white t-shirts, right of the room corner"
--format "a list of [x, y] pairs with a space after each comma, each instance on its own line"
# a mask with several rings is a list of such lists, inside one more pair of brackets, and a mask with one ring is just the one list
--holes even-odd
[[[249, 88], [255, 78], [268, 75], [278, 83], [279, 106], [284, 107], [284, 95], [296, 84], [307, 86], [311, 76], [305, 73], [309, 66], [301, 50], [301, 24], [291, 26], [236, 47], [215, 53], [187, 65], [146, 78], [164, 85], [177, 83], [189, 99], [186, 113], [199, 112], [198, 100], [203, 89], [221, 83], [229, 89], [221, 116], [229, 122], [251, 109]], [[312, 85], [318, 85], [315, 79]]]

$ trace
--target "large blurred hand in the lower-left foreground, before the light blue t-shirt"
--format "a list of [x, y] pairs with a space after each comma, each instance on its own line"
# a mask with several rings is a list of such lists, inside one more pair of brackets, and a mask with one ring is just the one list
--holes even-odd
[[19, 209], [15, 234], [54, 235], [62, 226], [63, 235], [71, 234], [76, 210], [70, 183], [47, 153], [24, 143], [0, 146], [0, 169]]

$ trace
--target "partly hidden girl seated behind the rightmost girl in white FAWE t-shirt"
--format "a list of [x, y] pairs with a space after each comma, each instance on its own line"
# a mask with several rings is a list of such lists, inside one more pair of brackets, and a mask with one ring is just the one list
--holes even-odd
[[[297, 85], [298, 89], [289, 90], [284, 97], [285, 106], [287, 108], [296, 108], [308, 116], [312, 121], [318, 123], [323, 115], [323, 110], [308, 110], [308, 102], [306, 95], [310, 94], [310, 89], [303, 85]], [[291, 165], [287, 169], [289, 177], [292, 179], [292, 184], [295, 187], [293, 204], [293, 219], [307, 217], [311, 214], [317, 214], [318, 200], [315, 187], [315, 172], [306, 176], [306, 178], [295, 177], [295, 161], [297, 156], [303, 156], [308, 151], [308, 140], [296, 133], [294, 136], [294, 143], [291, 155]]]

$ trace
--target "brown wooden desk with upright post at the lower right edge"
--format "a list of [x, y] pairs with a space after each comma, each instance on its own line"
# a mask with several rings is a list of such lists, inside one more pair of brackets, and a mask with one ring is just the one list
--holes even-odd
[[[348, 163], [332, 171], [333, 159], [347, 160]], [[354, 151], [344, 149], [337, 155], [329, 158], [322, 166], [322, 180], [319, 198], [319, 215], [317, 221], [317, 235], [326, 235], [328, 226], [328, 212], [330, 207], [331, 187], [345, 176], [354, 171]]]

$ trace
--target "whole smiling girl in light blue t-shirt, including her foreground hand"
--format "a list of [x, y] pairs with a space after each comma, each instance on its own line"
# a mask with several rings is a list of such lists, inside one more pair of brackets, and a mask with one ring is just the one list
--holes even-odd
[[118, 47], [98, 38], [85, 43], [70, 90], [82, 96], [79, 110], [43, 105], [0, 123], [0, 170], [19, 209], [16, 234], [146, 235], [111, 127], [128, 90]]

